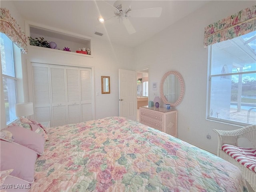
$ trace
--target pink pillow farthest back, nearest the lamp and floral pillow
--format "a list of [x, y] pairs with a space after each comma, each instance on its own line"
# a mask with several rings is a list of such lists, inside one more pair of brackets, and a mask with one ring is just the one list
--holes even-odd
[[34, 150], [38, 155], [44, 152], [44, 138], [35, 132], [19, 126], [8, 126], [6, 130], [12, 133], [15, 143]]

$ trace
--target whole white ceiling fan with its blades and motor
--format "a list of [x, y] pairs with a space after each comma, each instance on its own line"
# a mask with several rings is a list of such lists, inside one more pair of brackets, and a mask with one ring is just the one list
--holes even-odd
[[112, 19], [114, 17], [119, 17], [119, 20], [122, 21], [129, 34], [135, 33], [136, 30], [132, 26], [132, 23], [130, 22], [128, 17], [160, 17], [161, 15], [162, 7], [132, 10], [130, 5], [131, 2], [132, 1], [127, 0], [117, 0], [114, 3], [114, 5], [111, 5], [108, 2], [106, 2], [108, 5], [112, 7], [112, 9], [114, 9], [115, 14], [107, 20]]

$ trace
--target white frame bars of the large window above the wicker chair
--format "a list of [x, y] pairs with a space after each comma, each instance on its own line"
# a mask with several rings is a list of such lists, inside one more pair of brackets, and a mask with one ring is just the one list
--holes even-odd
[[212, 70], [212, 45], [208, 46], [208, 81], [207, 81], [207, 105], [206, 105], [206, 120], [212, 120], [216, 122], [226, 123], [226, 124], [232, 124], [237, 126], [248, 126], [250, 124], [243, 123], [243, 122], [237, 122], [232, 120], [225, 120], [221, 118], [215, 118], [210, 116], [210, 97], [211, 97], [211, 78], [216, 76], [232, 76], [232, 75], [239, 75], [239, 74], [252, 74], [256, 73], [256, 71], [246, 71], [246, 72], [236, 72], [236, 73], [225, 73], [225, 74], [214, 74], [211, 75]]

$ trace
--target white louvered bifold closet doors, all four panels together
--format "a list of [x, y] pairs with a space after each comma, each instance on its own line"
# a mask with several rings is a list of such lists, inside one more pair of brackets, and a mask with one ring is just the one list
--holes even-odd
[[62, 126], [92, 120], [92, 70], [32, 63], [34, 113], [38, 122]]

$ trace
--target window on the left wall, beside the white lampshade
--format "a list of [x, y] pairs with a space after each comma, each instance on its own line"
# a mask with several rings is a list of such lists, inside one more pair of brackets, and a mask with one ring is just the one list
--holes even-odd
[[17, 94], [14, 62], [14, 46], [16, 45], [3, 33], [0, 33], [0, 45], [6, 124], [10, 124], [17, 119], [15, 116]]

